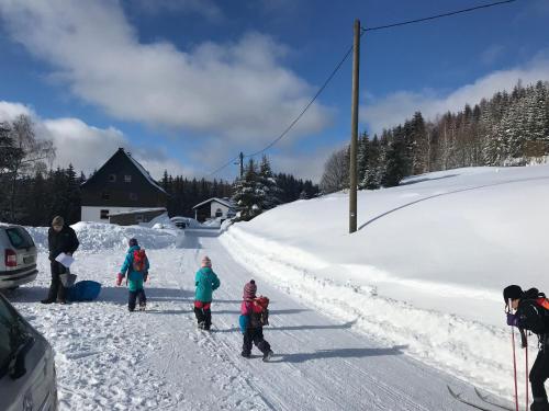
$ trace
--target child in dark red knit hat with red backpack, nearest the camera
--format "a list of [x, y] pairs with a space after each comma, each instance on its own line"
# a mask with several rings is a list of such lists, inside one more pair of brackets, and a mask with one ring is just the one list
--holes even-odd
[[251, 344], [264, 353], [264, 362], [268, 362], [272, 356], [269, 342], [264, 339], [264, 326], [269, 324], [269, 298], [256, 297], [257, 285], [254, 279], [244, 286], [243, 301], [240, 305], [240, 330], [244, 334], [242, 356], [251, 356]]

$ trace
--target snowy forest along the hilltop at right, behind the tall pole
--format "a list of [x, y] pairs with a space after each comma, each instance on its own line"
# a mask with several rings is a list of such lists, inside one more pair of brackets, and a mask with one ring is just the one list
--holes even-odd
[[[549, 83], [515, 85], [473, 107], [446, 113], [434, 122], [416, 112], [412, 119], [358, 141], [359, 189], [394, 186], [407, 175], [474, 165], [524, 165], [549, 155]], [[324, 167], [321, 189], [349, 186], [349, 147]]]

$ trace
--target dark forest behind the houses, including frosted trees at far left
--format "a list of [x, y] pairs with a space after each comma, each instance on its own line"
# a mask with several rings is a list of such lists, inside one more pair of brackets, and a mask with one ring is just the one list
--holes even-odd
[[[56, 215], [64, 216], [68, 224], [80, 220], [80, 184], [86, 175], [78, 174], [72, 164], [52, 170], [54, 159], [53, 141], [35, 136], [29, 116], [0, 123], [0, 221], [49, 226]], [[276, 181], [280, 191], [276, 192], [273, 205], [311, 197], [318, 192], [310, 181], [303, 182], [293, 175], [279, 174]], [[194, 205], [211, 197], [231, 197], [234, 190], [234, 185], [224, 181], [172, 178], [167, 171], [159, 184], [170, 194], [167, 205], [170, 217], [192, 217]]]

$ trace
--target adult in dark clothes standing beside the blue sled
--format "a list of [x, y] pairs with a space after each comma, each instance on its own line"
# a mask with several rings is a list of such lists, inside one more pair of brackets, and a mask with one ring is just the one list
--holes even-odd
[[47, 297], [41, 301], [42, 304], [66, 304], [67, 289], [61, 283], [60, 275], [65, 274], [68, 269], [66, 269], [61, 263], [55, 261], [55, 259], [60, 253], [72, 255], [79, 244], [80, 243], [78, 242], [75, 230], [65, 225], [65, 219], [61, 216], [54, 217], [52, 227], [47, 230], [52, 284], [49, 285], [49, 293], [47, 294]]

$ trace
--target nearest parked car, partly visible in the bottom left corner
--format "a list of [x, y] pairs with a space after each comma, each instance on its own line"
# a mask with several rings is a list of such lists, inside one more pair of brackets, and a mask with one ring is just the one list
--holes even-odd
[[0, 410], [57, 410], [52, 346], [1, 294]]

